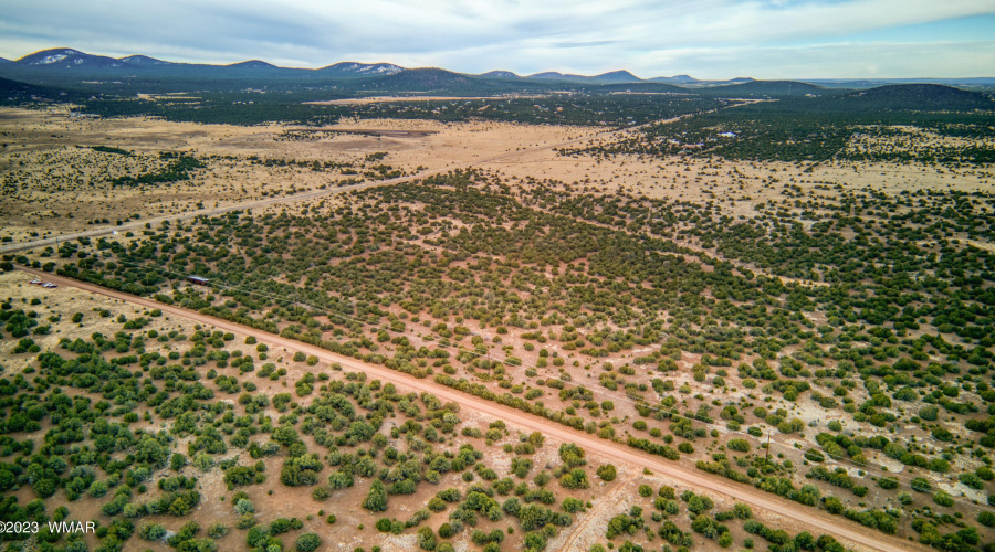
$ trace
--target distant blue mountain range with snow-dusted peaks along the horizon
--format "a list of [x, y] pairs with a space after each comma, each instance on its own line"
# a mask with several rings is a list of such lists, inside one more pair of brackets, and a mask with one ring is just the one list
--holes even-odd
[[[603, 92], [695, 93], [737, 96], [836, 95], [844, 88], [870, 88], [898, 83], [938, 83], [962, 87], [992, 87], [995, 77], [909, 79], [756, 81], [736, 77], [704, 81], [690, 75], [640, 78], [628, 71], [599, 75], [543, 72], [517, 75], [491, 71], [479, 75], [438, 67], [406, 68], [391, 63], [341, 62], [318, 68], [280, 67], [260, 60], [228, 65], [177, 63], [147, 55], [109, 57], [69, 47], [43, 50], [19, 60], [0, 59], [0, 77], [46, 89], [126, 94], [137, 89], [177, 92], [196, 89], [336, 89], [338, 94], [425, 93], [514, 94], [564, 88]], [[21, 91], [23, 93], [23, 91]]]

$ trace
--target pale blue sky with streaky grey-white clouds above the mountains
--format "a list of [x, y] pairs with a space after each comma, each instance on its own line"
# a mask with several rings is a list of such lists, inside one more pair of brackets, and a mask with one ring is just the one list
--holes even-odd
[[992, 0], [3, 0], [0, 56], [699, 78], [995, 76]]

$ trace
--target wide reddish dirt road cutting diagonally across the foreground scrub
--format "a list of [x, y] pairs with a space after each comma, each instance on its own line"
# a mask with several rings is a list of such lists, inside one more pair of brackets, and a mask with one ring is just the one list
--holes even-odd
[[307, 343], [294, 341], [292, 339], [281, 338], [272, 333], [266, 333], [255, 328], [229, 322], [220, 318], [214, 318], [200, 312], [188, 310], [171, 305], [136, 297], [133, 295], [114, 291], [93, 284], [77, 282], [53, 274], [35, 270], [32, 268], [18, 266], [19, 269], [38, 276], [46, 282], [54, 282], [60, 286], [72, 286], [84, 291], [103, 295], [113, 299], [127, 301], [146, 308], [160, 309], [165, 314], [187, 318], [198, 323], [210, 325], [220, 330], [241, 333], [243, 336], [254, 336], [260, 343], [270, 347], [282, 347], [287, 350], [302, 351], [305, 354], [314, 354], [324, 362], [338, 362], [343, 368], [349, 370], [365, 372], [367, 376], [376, 378], [385, 382], [392, 382], [404, 385], [418, 392], [432, 393], [443, 402], [455, 402], [462, 408], [471, 408], [473, 411], [504, 420], [513, 424], [528, 427], [533, 431], [553, 437], [554, 439], [576, 443], [588, 452], [609, 457], [616, 461], [625, 461], [639, 468], [647, 468], [656, 474], [661, 474], [680, 484], [684, 484], [699, 489], [704, 489], [712, 493], [725, 495], [734, 500], [744, 502], [754, 508], [766, 510], [773, 514], [781, 516], [789, 520], [793, 524], [804, 527], [815, 535], [831, 534], [837, 539], [845, 541], [846, 544], [855, 546], [858, 550], [891, 552], [896, 550], [931, 550], [918, 543], [890, 537], [877, 531], [862, 528], [841, 517], [834, 517], [823, 510], [816, 510], [806, 506], [792, 502], [775, 495], [763, 492], [748, 485], [741, 485], [719, 476], [710, 476], [703, 471], [698, 471], [681, 463], [664, 460], [662, 458], [645, 454], [640, 450], [629, 448], [625, 445], [612, 443], [590, 436], [584, 432], [578, 432], [569, 427], [556, 424], [546, 418], [526, 414], [524, 412], [500, 405], [498, 403], [480, 399], [468, 393], [463, 393], [446, 385], [436, 383], [431, 380], [419, 380], [404, 372], [396, 372], [388, 368], [376, 364], [367, 364], [352, 357], [343, 357], [331, 351], [312, 347]]

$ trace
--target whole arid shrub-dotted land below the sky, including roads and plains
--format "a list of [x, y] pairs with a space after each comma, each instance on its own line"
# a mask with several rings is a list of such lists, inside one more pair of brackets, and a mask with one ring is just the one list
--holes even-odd
[[995, 546], [989, 91], [21, 65], [4, 550]]

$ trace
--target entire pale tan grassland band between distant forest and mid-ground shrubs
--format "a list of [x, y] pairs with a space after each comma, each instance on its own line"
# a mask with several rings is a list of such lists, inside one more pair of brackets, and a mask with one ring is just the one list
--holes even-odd
[[[631, 193], [673, 201], [713, 202], [733, 216], [781, 201], [784, 185], [802, 194], [816, 187], [871, 187], [900, 192], [922, 188], [973, 191], [995, 177], [981, 169], [944, 170], [900, 163], [733, 162], [674, 156], [666, 160], [618, 156], [610, 160], [563, 157], [556, 149], [614, 140], [632, 132], [591, 127], [516, 125], [492, 121], [343, 119], [308, 128], [279, 125], [237, 127], [167, 123], [148, 118], [83, 119], [64, 110], [0, 109], [0, 238], [27, 244], [95, 227], [144, 226], [154, 217], [251, 208], [324, 195], [352, 178], [364, 180], [366, 156], [404, 174], [431, 174], [478, 167], [512, 180], [557, 181], [595, 193]], [[8, 138], [10, 137], [10, 138]], [[930, 138], [935, 140], [935, 138]], [[91, 146], [133, 151], [130, 157]], [[189, 181], [146, 188], [112, 188], [109, 178], [154, 170], [161, 151], [187, 151], [207, 162]], [[305, 161], [306, 167], [266, 167], [260, 160]], [[352, 163], [359, 176], [311, 163]], [[809, 172], [803, 172], [809, 169]], [[388, 180], [390, 182], [392, 180]], [[376, 182], [376, 181], [374, 181]], [[92, 223], [92, 221], [108, 222]]]

